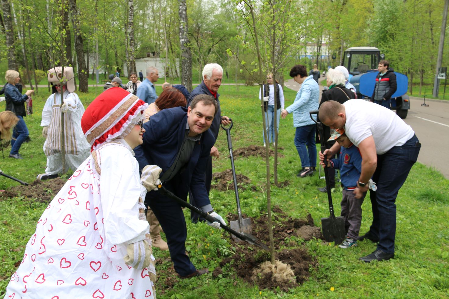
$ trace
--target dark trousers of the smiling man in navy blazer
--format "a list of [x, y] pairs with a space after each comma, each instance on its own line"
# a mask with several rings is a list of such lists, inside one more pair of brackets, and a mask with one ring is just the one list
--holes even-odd
[[[156, 191], [152, 191], [156, 192]], [[145, 202], [149, 203], [151, 210], [158, 218], [159, 223], [167, 237], [168, 250], [172, 258], [176, 273], [180, 276], [187, 276], [196, 271], [195, 266], [185, 254], [185, 239], [187, 238], [187, 228], [185, 226], [184, 213], [178, 202], [172, 198], [158, 196]]]

